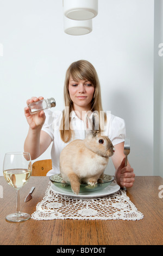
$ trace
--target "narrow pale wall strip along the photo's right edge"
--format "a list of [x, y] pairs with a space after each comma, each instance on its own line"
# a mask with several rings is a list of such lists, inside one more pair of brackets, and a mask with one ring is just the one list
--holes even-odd
[[155, 0], [154, 19], [154, 174], [163, 176], [163, 1]]

